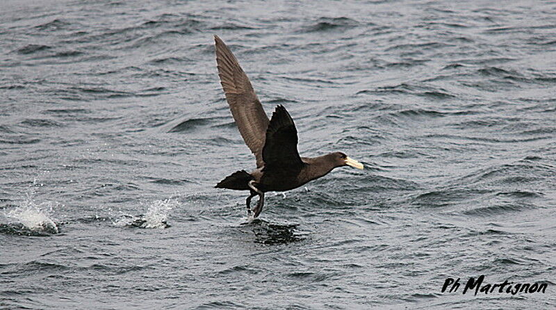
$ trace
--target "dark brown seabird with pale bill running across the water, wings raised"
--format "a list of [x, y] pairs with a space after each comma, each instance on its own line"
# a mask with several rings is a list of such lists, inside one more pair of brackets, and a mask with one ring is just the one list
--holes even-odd
[[214, 36], [218, 76], [228, 101], [231, 115], [247, 147], [256, 158], [252, 172], [240, 170], [216, 184], [215, 188], [250, 190], [247, 215], [251, 214], [251, 199], [259, 195], [254, 218], [261, 214], [266, 192], [281, 192], [325, 176], [336, 167], [350, 165], [363, 169], [359, 163], [342, 152], [318, 157], [300, 157], [297, 152], [297, 129], [284, 106], [277, 106], [268, 120], [261, 101], [241, 69], [236, 56], [224, 42]]

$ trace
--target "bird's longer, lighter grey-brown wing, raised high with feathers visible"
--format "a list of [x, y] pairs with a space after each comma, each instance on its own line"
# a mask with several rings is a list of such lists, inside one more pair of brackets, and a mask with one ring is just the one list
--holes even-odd
[[214, 36], [216, 63], [218, 76], [230, 106], [231, 115], [234, 116], [239, 132], [247, 147], [255, 155], [257, 168], [263, 166], [263, 146], [265, 133], [268, 128], [266, 116], [261, 101], [256, 97], [255, 91], [247, 74], [241, 69], [234, 54], [218, 38]]

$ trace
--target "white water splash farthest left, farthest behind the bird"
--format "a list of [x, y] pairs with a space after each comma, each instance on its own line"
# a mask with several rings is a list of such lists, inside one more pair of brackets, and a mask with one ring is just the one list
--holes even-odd
[[57, 204], [53, 202], [36, 202], [36, 186], [42, 186], [42, 184], [37, 184], [36, 180], [34, 180], [33, 185], [25, 193], [22, 204], [16, 206], [15, 209], [7, 211], [4, 213], [4, 216], [14, 224], [22, 225], [25, 229], [58, 234], [58, 226], [52, 219], [54, 206]]

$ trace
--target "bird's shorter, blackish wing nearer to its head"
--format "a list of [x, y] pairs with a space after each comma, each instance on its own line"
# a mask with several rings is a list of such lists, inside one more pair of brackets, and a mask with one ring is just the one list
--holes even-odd
[[284, 106], [277, 106], [266, 130], [263, 147], [265, 169], [296, 169], [303, 166], [297, 152], [297, 129]]

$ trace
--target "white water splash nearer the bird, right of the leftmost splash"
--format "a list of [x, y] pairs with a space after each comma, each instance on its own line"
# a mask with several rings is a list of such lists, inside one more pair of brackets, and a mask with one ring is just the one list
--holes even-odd
[[121, 215], [114, 225], [139, 228], [167, 228], [168, 213], [177, 205], [172, 198], [155, 200], [147, 206], [147, 212], [142, 215]]

